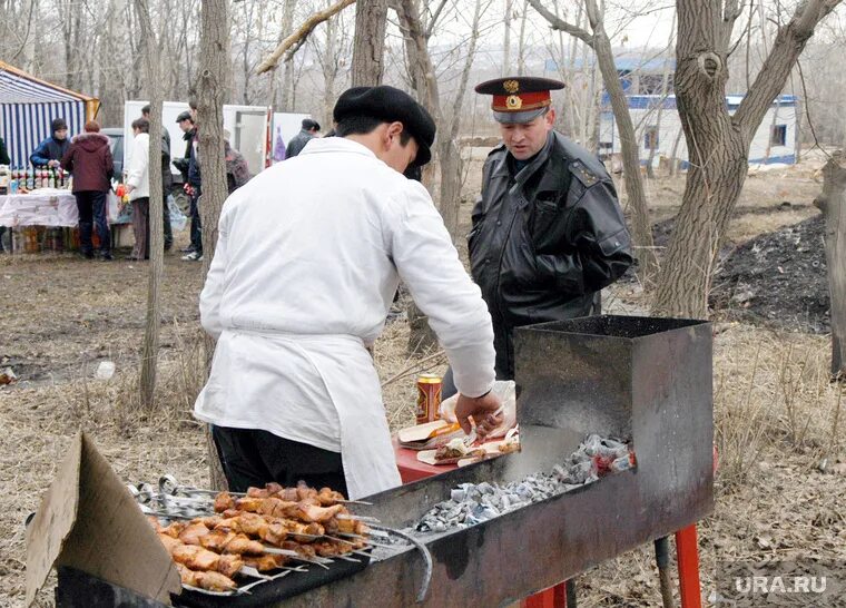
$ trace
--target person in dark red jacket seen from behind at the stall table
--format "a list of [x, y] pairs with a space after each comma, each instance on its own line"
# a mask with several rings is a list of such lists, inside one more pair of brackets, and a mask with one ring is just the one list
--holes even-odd
[[100, 257], [108, 261], [111, 259], [111, 235], [106, 219], [106, 196], [111, 187], [115, 165], [109, 138], [99, 131], [100, 125], [96, 121], [86, 122], [85, 133], [70, 140], [70, 147], [61, 159], [61, 168], [73, 174], [82, 255], [94, 258], [91, 229], [96, 225]]

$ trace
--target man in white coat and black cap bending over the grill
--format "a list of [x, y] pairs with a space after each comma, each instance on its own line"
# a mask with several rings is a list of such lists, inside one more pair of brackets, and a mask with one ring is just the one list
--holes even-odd
[[195, 415], [233, 491], [276, 481], [356, 499], [401, 483], [366, 346], [400, 278], [429, 315], [460, 392], [465, 431], [501, 416], [493, 330], [426, 189], [402, 174], [430, 160], [435, 125], [393, 87], [345, 91], [338, 137], [235, 192], [200, 296], [217, 339]]

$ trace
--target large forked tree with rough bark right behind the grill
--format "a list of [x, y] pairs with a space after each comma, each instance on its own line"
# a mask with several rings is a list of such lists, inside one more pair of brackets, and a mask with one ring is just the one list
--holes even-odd
[[656, 314], [702, 318], [715, 253], [748, 171], [752, 136], [781, 91], [815, 26], [840, 0], [805, 0], [776, 38], [734, 115], [727, 59], [737, 0], [677, 0], [676, 96], [690, 160], [681, 209], [658, 281]]

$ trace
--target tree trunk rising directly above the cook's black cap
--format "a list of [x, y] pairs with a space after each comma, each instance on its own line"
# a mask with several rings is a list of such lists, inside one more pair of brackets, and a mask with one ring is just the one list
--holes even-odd
[[357, 0], [353, 39], [353, 87], [382, 84], [385, 57], [387, 0]]

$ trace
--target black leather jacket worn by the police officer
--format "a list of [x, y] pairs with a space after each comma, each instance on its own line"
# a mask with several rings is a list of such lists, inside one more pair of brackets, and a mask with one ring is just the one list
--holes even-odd
[[504, 145], [491, 151], [468, 241], [501, 380], [514, 377], [514, 327], [588, 315], [593, 294], [633, 262], [611, 177], [555, 131], [517, 174]]

